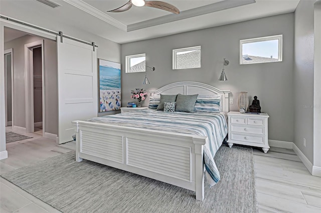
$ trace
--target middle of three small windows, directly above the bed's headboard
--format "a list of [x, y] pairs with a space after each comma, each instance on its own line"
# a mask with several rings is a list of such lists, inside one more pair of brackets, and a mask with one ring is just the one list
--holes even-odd
[[201, 67], [201, 46], [173, 49], [173, 69]]

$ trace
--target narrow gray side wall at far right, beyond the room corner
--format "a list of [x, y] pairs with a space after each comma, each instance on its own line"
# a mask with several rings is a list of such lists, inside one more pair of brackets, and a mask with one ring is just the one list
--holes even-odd
[[[301, 0], [295, 10], [294, 140], [313, 163], [314, 0]], [[306, 146], [303, 146], [303, 137]]]

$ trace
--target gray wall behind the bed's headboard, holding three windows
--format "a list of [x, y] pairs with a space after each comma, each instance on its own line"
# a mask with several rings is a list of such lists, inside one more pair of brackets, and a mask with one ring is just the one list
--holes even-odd
[[[240, 39], [276, 34], [283, 34], [282, 62], [239, 64]], [[199, 81], [231, 89], [230, 110], [236, 111], [239, 92], [247, 91], [250, 103], [257, 95], [262, 111], [270, 115], [269, 139], [293, 141], [293, 44], [294, 13], [122, 44], [122, 104], [131, 100], [133, 88], [151, 90], [176, 81]], [[202, 46], [202, 67], [173, 70], [172, 49], [196, 45]], [[147, 71], [149, 85], [142, 84], [145, 72], [125, 73], [125, 56], [137, 53], [146, 53], [146, 65], [156, 68]], [[230, 61], [225, 68], [228, 81], [219, 81], [224, 57]]]

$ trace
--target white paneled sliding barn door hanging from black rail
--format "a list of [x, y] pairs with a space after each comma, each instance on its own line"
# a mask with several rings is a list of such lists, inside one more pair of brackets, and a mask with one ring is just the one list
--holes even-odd
[[96, 117], [97, 55], [93, 46], [57, 36], [58, 53], [58, 137], [72, 140], [73, 120]]

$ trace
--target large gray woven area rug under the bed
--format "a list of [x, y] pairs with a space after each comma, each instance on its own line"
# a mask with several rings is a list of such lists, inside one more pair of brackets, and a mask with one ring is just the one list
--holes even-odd
[[253, 150], [222, 145], [221, 180], [205, 199], [195, 192], [99, 163], [75, 161], [75, 151], [3, 174], [63, 212], [258, 212]]

